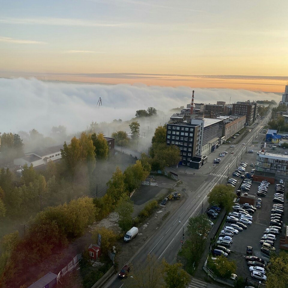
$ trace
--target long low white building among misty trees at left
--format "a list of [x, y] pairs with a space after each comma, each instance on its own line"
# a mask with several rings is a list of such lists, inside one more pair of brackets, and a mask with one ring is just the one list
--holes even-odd
[[63, 149], [63, 144], [48, 147], [43, 150], [37, 150], [34, 152], [25, 153], [24, 157], [14, 159], [14, 165], [24, 166], [27, 164], [33, 167], [37, 167], [43, 164], [47, 164], [49, 161], [55, 161], [61, 158], [60, 149]]

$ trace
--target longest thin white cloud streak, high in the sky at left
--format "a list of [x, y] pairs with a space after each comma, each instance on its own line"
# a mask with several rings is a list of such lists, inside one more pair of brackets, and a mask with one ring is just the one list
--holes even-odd
[[[84, 26], [84, 27], [120, 27], [126, 26], [128, 23], [104, 23], [95, 22], [84, 19], [70, 19], [70, 18], [2, 18], [0, 23], [5, 24], [38, 24], [50, 26]], [[129, 24], [130, 25], [130, 24]]]

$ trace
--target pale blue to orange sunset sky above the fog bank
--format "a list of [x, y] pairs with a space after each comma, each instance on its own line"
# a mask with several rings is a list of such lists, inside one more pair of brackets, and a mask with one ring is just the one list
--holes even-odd
[[283, 92], [281, 1], [13, 0], [0, 77]]

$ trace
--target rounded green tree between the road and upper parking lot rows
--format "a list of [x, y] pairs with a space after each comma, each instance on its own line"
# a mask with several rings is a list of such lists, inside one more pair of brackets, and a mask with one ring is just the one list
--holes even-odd
[[223, 184], [216, 185], [207, 195], [210, 205], [219, 205], [226, 211], [230, 211], [233, 206], [233, 199], [235, 193], [233, 187], [229, 187]]

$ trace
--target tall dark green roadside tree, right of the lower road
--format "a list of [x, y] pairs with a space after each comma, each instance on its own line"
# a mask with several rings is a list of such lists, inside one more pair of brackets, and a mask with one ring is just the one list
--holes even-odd
[[205, 251], [208, 233], [211, 229], [206, 214], [190, 217], [187, 225], [187, 240], [183, 246], [183, 254], [187, 259], [187, 268], [193, 273], [193, 263], [196, 265]]

